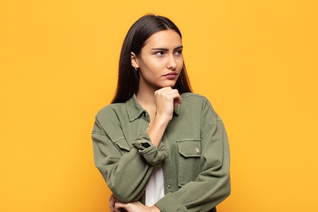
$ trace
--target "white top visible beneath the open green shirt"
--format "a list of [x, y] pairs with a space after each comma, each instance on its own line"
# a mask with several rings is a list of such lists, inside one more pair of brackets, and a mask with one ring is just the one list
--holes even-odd
[[162, 164], [156, 165], [146, 187], [145, 205], [152, 206], [165, 196], [164, 171]]

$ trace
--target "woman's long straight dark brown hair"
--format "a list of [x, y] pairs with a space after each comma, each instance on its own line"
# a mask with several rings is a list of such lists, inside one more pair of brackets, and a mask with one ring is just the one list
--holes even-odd
[[[120, 52], [117, 89], [112, 103], [125, 102], [137, 93], [139, 73], [131, 65], [131, 52], [140, 55], [150, 36], [167, 29], [173, 29], [182, 38], [178, 27], [170, 19], [152, 14], [141, 17], [129, 29]], [[184, 64], [174, 88], [178, 89], [180, 94], [192, 92]]]

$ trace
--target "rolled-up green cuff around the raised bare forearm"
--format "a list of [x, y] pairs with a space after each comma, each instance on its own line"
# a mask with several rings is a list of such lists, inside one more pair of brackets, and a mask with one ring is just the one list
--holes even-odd
[[138, 149], [138, 153], [152, 166], [160, 164], [168, 154], [165, 146], [158, 150], [151, 143], [148, 133], [141, 133], [132, 144]]

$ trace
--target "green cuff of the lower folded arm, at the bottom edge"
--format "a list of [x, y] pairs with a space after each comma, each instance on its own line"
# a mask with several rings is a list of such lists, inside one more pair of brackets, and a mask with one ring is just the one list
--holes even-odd
[[168, 193], [155, 204], [162, 212], [188, 212], [186, 207], [172, 194]]

